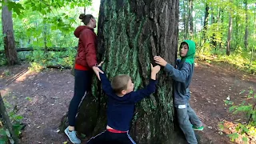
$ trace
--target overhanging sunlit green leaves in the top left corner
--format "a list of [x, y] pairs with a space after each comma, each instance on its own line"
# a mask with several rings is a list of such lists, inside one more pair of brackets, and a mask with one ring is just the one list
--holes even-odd
[[44, 23], [50, 24], [52, 30], [61, 30], [64, 33], [68, 33], [74, 29], [72, 25], [76, 22], [74, 16], [77, 15], [70, 16], [69, 13], [65, 12], [65, 9], [70, 10], [90, 6], [91, 0], [23, 0], [19, 2], [7, 0], [3, 4], [8, 6], [9, 10], [14, 11], [14, 18], [17, 18], [17, 14], [18, 18], [27, 18], [31, 17], [31, 14], [39, 14], [39, 19], [44, 18]]

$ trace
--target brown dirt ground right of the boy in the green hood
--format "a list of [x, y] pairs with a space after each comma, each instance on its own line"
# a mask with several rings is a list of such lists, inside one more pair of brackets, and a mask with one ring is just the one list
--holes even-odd
[[246, 101], [246, 93], [239, 93], [250, 88], [256, 90], [256, 77], [253, 75], [244, 74], [228, 64], [198, 63], [190, 87], [190, 102], [205, 125], [205, 130], [199, 134], [209, 138], [214, 144], [231, 143], [226, 134], [218, 134], [218, 122], [226, 120], [234, 123], [238, 118], [245, 118], [243, 115], [230, 114], [229, 106], [225, 106], [224, 100], [229, 97], [230, 101], [238, 105]]

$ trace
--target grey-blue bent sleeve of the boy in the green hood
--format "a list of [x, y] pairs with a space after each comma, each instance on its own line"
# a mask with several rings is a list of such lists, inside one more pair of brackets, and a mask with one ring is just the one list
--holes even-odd
[[184, 62], [182, 69], [175, 69], [169, 63], [165, 66], [167, 74], [177, 82], [186, 82], [186, 78], [190, 75], [190, 64]]

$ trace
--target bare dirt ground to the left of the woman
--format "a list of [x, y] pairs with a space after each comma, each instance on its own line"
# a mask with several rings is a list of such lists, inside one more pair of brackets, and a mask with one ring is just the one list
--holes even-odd
[[[69, 70], [46, 70], [37, 74], [31, 73], [27, 67], [10, 67], [11, 76], [0, 80], [4, 98], [18, 106], [18, 114], [28, 124], [22, 133], [21, 143], [66, 142], [68, 138], [56, 131], [73, 96], [74, 77]], [[2, 67], [0, 74], [4, 70], [6, 68]]]

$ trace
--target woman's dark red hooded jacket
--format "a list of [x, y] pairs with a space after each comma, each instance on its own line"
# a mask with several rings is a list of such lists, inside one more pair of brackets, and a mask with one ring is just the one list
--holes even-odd
[[91, 67], [97, 65], [97, 36], [94, 29], [89, 26], [78, 26], [74, 30], [74, 36], [79, 38], [74, 68], [76, 70], [90, 70]]

